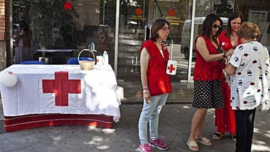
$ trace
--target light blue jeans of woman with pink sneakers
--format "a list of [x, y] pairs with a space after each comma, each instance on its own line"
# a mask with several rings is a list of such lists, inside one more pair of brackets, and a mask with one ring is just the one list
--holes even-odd
[[158, 138], [158, 119], [162, 107], [165, 105], [168, 93], [151, 96], [151, 103], [144, 101], [143, 109], [139, 119], [139, 138], [141, 144], [148, 143], [147, 124], [149, 122], [150, 138]]

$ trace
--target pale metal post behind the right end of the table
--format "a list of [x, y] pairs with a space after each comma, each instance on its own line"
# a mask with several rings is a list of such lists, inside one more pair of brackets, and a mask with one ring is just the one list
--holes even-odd
[[117, 79], [117, 62], [118, 62], [119, 7], [120, 7], [120, 0], [117, 0], [116, 19], [115, 19], [115, 44], [114, 44], [114, 74], [116, 79]]

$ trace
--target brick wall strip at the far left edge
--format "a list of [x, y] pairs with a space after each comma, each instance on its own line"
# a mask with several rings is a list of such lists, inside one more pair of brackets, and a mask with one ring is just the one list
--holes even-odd
[[9, 50], [10, 0], [0, 0], [0, 71], [9, 64]]

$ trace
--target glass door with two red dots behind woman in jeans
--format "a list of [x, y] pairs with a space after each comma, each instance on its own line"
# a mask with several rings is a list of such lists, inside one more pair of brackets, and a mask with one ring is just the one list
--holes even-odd
[[164, 18], [171, 26], [170, 38], [164, 41], [178, 62], [177, 73], [171, 77], [173, 86], [188, 79], [192, 0], [121, 0], [119, 14], [118, 84], [141, 88], [141, 44], [149, 36], [149, 27]]

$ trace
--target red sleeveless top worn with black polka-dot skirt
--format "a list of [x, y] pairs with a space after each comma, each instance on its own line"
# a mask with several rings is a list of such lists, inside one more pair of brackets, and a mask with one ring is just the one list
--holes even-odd
[[[199, 35], [198, 37], [203, 37], [203, 39], [206, 42], [206, 47], [210, 54], [218, 54], [217, 49], [205, 35]], [[203, 57], [196, 48], [196, 42], [198, 37], [195, 39], [195, 53], [197, 58], [194, 67], [193, 80], [195, 81], [220, 80], [219, 62], [218, 61], [206, 62], [206, 60], [203, 59]]]

